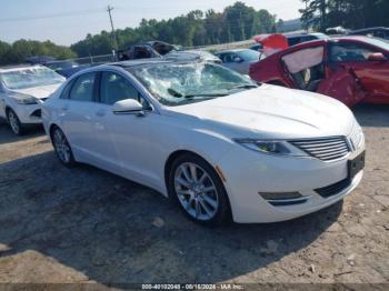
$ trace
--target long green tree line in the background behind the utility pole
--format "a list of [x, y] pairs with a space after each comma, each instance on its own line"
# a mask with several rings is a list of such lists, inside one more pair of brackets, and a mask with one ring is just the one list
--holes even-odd
[[276, 16], [267, 10], [256, 10], [243, 2], [236, 2], [222, 12], [190, 11], [168, 20], [142, 19], [139, 27], [118, 29], [114, 36], [102, 31], [88, 34], [71, 46], [80, 57], [109, 53], [113, 47], [127, 48], [146, 40], [161, 40], [182, 47], [218, 44], [247, 40], [258, 33], [275, 32]]

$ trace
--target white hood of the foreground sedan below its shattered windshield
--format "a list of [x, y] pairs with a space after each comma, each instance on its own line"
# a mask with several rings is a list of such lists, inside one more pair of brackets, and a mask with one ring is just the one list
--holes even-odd
[[171, 107], [167, 112], [194, 118], [207, 123], [206, 128], [233, 131], [236, 138], [348, 136], [355, 122], [351, 111], [335, 99], [268, 84], [209, 101]]

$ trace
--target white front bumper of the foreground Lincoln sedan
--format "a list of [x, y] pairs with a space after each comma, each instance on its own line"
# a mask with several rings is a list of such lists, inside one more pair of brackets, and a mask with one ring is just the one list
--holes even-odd
[[[316, 158], [281, 158], [235, 147], [220, 162], [226, 178], [233, 221], [239, 223], [278, 222], [327, 208], [349, 194], [360, 183], [360, 171], [339, 192], [322, 197], [318, 189], [348, 178], [348, 161], [358, 157], [365, 144], [347, 158], [325, 162]], [[302, 203], [271, 204], [260, 193], [298, 192]]]

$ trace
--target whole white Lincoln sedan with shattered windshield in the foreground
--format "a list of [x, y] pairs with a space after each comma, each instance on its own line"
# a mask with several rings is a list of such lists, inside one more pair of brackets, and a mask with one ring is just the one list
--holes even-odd
[[202, 224], [293, 219], [362, 179], [365, 138], [346, 106], [213, 63], [96, 67], [70, 78], [42, 118], [62, 163], [153, 188]]

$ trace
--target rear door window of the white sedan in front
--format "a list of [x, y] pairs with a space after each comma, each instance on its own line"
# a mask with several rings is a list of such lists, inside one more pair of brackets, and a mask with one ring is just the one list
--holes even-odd
[[84, 73], [81, 74], [71, 88], [69, 98], [76, 101], [93, 101], [96, 73]]

